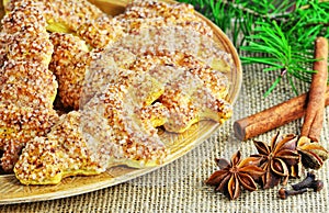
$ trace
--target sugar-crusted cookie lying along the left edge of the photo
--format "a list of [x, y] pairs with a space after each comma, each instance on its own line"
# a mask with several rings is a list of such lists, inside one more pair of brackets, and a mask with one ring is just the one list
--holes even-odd
[[58, 85], [47, 68], [53, 44], [38, 4], [21, 2], [2, 19], [2, 25], [1, 167], [11, 171], [25, 144], [45, 135], [57, 121], [53, 101]]

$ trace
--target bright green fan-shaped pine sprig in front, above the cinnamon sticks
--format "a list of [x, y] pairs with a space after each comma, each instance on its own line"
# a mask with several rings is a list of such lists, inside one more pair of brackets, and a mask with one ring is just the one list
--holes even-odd
[[265, 56], [241, 57], [241, 61], [243, 64], [264, 64], [268, 65], [264, 71], [279, 71], [279, 77], [264, 96], [268, 96], [284, 76], [288, 77], [292, 89], [296, 92], [291, 77], [309, 82], [314, 71], [307, 67], [307, 64], [314, 63], [315, 59], [292, 51], [294, 41], [282, 31], [275, 21], [270, 23], [257, 22], [256, 24], [258, 27], [254, 29], [254, 35], [247, 37], [249, 45], [241, 46], [240, 49], [248, 53], [265, 54]]

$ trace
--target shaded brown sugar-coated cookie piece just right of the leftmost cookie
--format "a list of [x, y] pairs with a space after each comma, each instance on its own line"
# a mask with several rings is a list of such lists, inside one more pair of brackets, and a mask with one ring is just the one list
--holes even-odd
[[79, 109], [84, 74], [91, 57], [86, 43], [77, 36], [53, 33], [54, 54], [49, 69], [58, 80], [58, 96], [65, 108]]

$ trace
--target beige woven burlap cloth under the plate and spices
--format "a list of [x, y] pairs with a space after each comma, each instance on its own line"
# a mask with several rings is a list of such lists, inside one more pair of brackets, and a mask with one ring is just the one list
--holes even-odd
[[[307, 192], [287, 200], [277, 198], [281, 186], [254, 192], [243, 191], [238, 200], [229, 201], [204, 180], [216, 169], [216, 157], [230, 158], [241, 150], [242, 156], [257, 153], [252, 141], [239, 142], [232, 134], [232, 122], [283, 102], [294, 93], [283, 82], [268, 98], [263, 98], [276, 72], [262, 72], [262, 66], [243, 66], [243, 83], [235, 104], [235, 114], [202, 145], [174, 162], [129, 182], [103, 190], [53, 201], [0, 206], [0, 212], [329, 212], [329, 162], [316, 171], [325, 181], [320, 192]], [[296, 81], [298, 91], [308, 85]], [[287, 109], [288, 110], [288, 109]], [[281, 133], [300, 132], [303, 120], [256, 137], [269, 142]], [[329, 108], [326, 109], [321, 143], [329, 148]], [[288, 186], [299, 180], [290, 180]]]

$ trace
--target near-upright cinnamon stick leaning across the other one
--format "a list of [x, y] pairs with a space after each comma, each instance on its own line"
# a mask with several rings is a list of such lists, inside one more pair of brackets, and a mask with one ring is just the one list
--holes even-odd
[[324, 110], [326, 102], [326, 88], [328, 79], [328, 41], [318, 37], [315, 44], [315, 58], [307, 110], [302, 127], [302, 136], [307, 136], [314, 142], [319, 142], [324, 123]]

